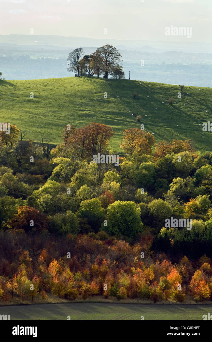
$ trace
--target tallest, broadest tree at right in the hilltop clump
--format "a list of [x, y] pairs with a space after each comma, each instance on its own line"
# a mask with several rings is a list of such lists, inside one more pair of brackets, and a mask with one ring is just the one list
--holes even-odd
[[114, 67], [118, 66], [121, 62], [121, 54], [112, 45], [103, 45], [100, 48], [101, 56], [104, 63], [104, 78], [108, 78], [113, 73]]

